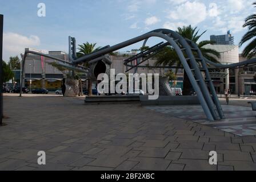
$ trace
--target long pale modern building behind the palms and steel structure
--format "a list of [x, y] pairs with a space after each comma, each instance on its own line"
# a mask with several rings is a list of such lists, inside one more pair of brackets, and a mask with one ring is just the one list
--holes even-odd
[[[221, 64], [233, 64], [239, 61], [247, 60], [246, 58], [239, 55], [238, 46], [234, 45], [223, 45], [223, 44], [208, 44], [204, 48], [215, 49], [221, 54], [220, 58], [217, 58]], [[126, 72], [126, 66], [123, 65], [123, 61], [133, 56], [133, 53], [119, 53], [114, 56], [110, 56], [113, 60], [111, 68], [115, 69], [115, 74], [118, 73], [134, 73], [135, 68]], [[58, 57], [60, 59], [68, 60], [68, 55], [62, 51], [49, 51], [49, 55]], [[30, 78], [31, 88], [46, 88], [50, 91], [54, 91], [61, 88], [62, 79], [65, 77], [66, 73], [62, 73], [57, 68], [51, 66], [50, 62], [54, 60], [44, 58], [41, 56], [27, 55], [25, 64], [25, 82], [23, 86], [30, 88]], [[154, 65], [157, 60], [150, 59], [142, 63], [141, 65]], [[164, 76], [169, 69], [165, 68], [138, 68], [137, 72], [140, 73], [159, 73], [160, 76]], [[173, 72], [176, 70], [173, 69]], [[176, 87], [183, 88], [183, 69], [178, 69], [177, 71], [177, 85]], [[211, 77], [213, 78], [214, 86], [217, 93], [224, 93], [225, 88], [229, 88], [233, 94], [249, 94], [250, 90], [256, 91], [256, 82], [254, 81], [254, 75], [256, 73], [255, 67], [245, 67], [240, 69], [210, 69]], [[15, 79], [19, 79], [20, 71], [16, 72]], [[30, 76], [31, 75], [31, 76]], [[87, 88], [85, 79], [83, 79], [83, 87]], [[17, 81], [18, 82], [18, 81]], [[171, 86], [173, 82], [170, 82]], [[95, 84], [93, 85], [93, 87]]]

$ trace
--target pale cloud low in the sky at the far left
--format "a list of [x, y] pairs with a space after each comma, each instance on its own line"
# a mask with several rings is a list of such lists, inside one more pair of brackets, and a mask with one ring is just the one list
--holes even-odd
[[36, 35], [29, 37], [13, 32], [3, 33], [3, 59], [9, 60], [10, 56], [20, 55], [26, 47], [36, 47], [40, 45], [40, 39]]

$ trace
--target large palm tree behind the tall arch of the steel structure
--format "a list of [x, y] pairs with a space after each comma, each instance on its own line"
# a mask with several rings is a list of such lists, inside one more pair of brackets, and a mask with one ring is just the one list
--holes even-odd
[[[220, 53], [215, 51], [214, 49], [210, 48], [204, 48], [203, 46], [207, 44], [213, 44], [214, 42], [210, 40], [203, 40], [201, 42], [198, 42], [199, 38], [203, 34], [205, 34], [206, 31], [203, 31], [202, 34], [199, 34], [199, 30], [197, 30], [197, 27], [193, 28], [190, 26], [183, 26], [178, 27], [178, 30], [176, 31], [179, 35], [183, 36], [183, 38], [187, 38], [192, 40], [195, 44], [197, 44], [198, 48], [201, 50], [202, 55], [206, 57], [207, 59], [218, 63], [217, 58], [220, 57]], [[182, 63], [179, 60], [179, 57], [177, 53], [175, 52], [174, 48], [171, 46], [167, 46], [163, 48], [163, 51], [160, 52], [157, 55], [157, 62], [155, 63], [156, 65], [168, 65], [168, 66], [173, 66], [175, 65], [177, 67], [176, 72], [178, 72], [178, 68], [182, 68]], [[188, 62], [190, 65], [190, 63]], [[184, 72], [184, 77], [183, 77], [183, 94], [184, 95], [189, 95], [191, 91], [192, 85], [189, 81], [189, 77], [187, 76], [187, 73]]]

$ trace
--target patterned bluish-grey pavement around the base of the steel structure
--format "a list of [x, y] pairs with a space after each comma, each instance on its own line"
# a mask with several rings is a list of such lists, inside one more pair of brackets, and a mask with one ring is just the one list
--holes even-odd
[[226, 119], [215, 122], [207, 121], [200, 105], [147, 106], [146, 108], [177, 118], [190, 119], [241, 137], [256, 135], [256, 112], [252, 111], [250, 107], [222, 105]]

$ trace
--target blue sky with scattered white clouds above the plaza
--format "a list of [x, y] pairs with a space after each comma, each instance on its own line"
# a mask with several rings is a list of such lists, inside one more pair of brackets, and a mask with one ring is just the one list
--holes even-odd
[[[67, 52], [68, 36], [75, 37], [77, 44], [90, 42], [103, 47], [158, 28], [177, 30], [189, 24], [200, 32], [207, 30], [201, 40], [230, 30], [238, 45], [247, 31], [242, 27], [244, 19], [255, 13], [256, 7], [251, 5], [254, 1], [0, 0], [0, 14], [4, 15], [3, 60], [20, 55], [25, 47]], [[38, 16], [38, 3], [45, 3], [46, 16]], [[147, 46], [161, 41], [152, 38]], [[142, 42], [119, 51], [141, 46]]]

